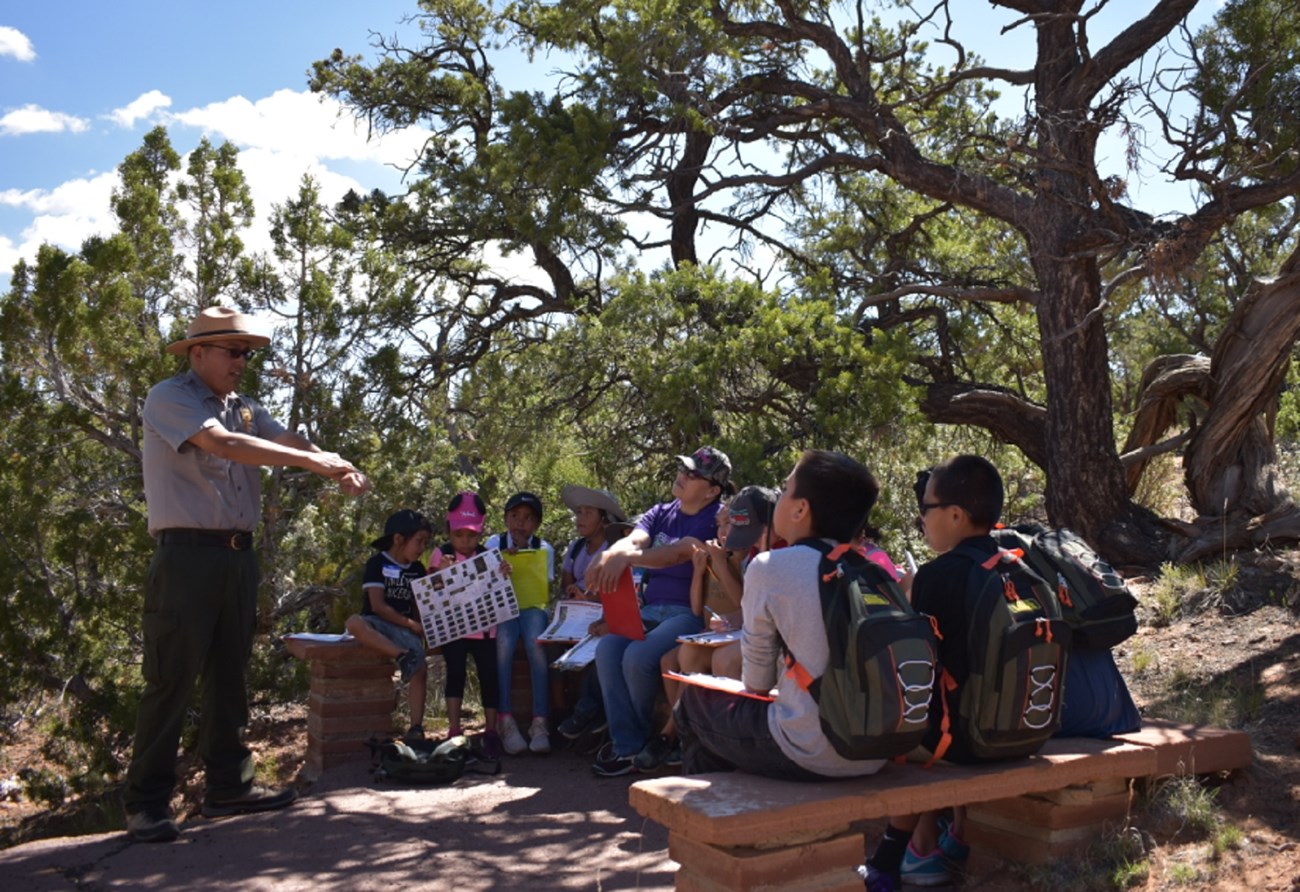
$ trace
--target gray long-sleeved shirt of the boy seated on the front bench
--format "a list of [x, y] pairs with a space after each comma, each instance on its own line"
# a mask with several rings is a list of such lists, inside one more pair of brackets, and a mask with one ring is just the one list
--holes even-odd
[[772, 739], [800, 767], [827, 778], [875, 774], [884, 759], [846, 759], [822, 733], [816, 701], [788, 677], [781, 641], [812, 677], [826, 671], [829, 649], [818, 589], [820, 553], [806, 545], [766, 551], [745, 570], [742, 677], [757, 690], [776, 687], [767, 710]]

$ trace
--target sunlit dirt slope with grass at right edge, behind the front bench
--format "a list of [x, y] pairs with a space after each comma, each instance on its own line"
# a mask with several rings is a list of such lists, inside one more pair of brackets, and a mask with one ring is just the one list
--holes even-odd
[[1300, 555], [1243, 562], [1234, 586], [1200, 593], [1202, 609], [1166, 627], [1150, 622], [1153, 586], [1134, 588], [1145, 622], [1119, 657], [1144, 714], [1208, 709], [1212, 723], [1249, 732], [1254, 765], [1217, 787], [1240, 845], [1216, 857], [1206, 840], [1139, 815], [1152, 869], [1131, 888], [1300, 889]]

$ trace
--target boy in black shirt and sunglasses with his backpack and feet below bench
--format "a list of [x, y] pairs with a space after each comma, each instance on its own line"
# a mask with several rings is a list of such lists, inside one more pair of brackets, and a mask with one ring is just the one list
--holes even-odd
[[[958, 455], [923, 471], [916, 498], [939, 557], [916, 571], [911, 603], [933, 618], [942, 664], [923, 749], [961, 765], [1028, 755], [1061, 723], [1070, 632], [1056, 596], [991, 536], [1002, 479], [987, 459]], [[1002, 690], [1006, 679], [1020, 687]], [[889, 888], [883, 876], [900, 874], [911, 885], [952, 883], [970, 854], [963, 823], [961, 807], [944, 828], [937, 813], [890, 818], [861, 869], [867, 888]]]

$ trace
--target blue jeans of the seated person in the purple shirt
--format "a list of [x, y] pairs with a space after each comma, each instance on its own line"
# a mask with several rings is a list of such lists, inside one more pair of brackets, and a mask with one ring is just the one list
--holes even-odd
[[646, 605], [641, 619], [654, 625], [645, 640], [607, 635], [595, 649], [615, 755], [636, 755], [654, 735], [654, 702], [663, 688], [659, 659], [677, 646], [677, 636], [703, 629], [703, 622], [685, 605]]

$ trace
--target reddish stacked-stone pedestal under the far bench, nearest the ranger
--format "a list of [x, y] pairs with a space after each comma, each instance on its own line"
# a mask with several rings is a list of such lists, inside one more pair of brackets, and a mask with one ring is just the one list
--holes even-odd
[[290, 638], [286, 648], [312, 671], [303, 774], [316, 779], [337, 765], [369, 759], [367, 741], [393, 733], [393, 661], [356, 641]]

